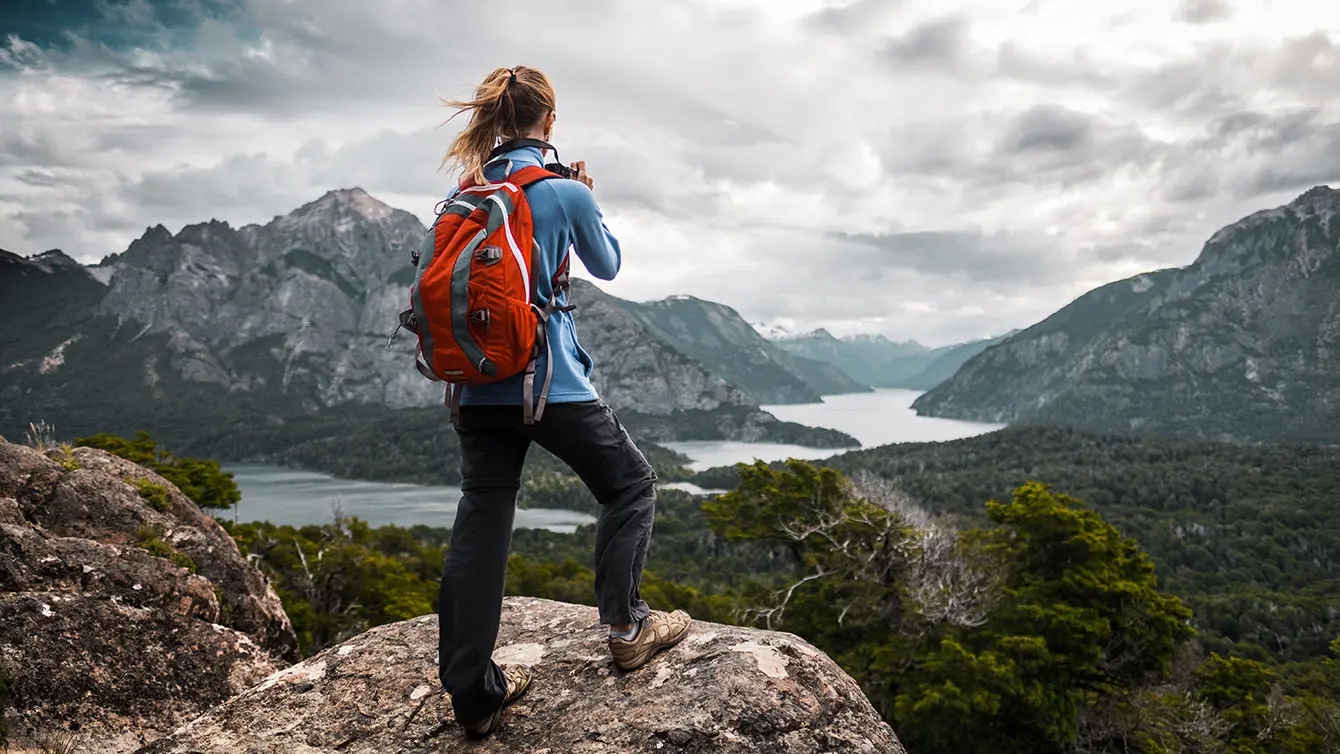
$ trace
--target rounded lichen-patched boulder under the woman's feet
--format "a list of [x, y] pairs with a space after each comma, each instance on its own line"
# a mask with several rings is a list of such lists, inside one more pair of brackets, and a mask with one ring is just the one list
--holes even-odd
[[903, 751], [856, 683], [789, 633], [699, 623], [632, 674], [603, 637], [594, 608], [508, 597], [494, 658], [535, 682], [482, 743], [452, 722], [429, 616], [331, 647], [141, 754]]

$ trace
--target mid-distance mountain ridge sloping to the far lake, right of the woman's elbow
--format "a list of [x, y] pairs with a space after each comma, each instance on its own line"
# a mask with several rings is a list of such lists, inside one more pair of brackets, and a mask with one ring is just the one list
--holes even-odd
[[757, 403], [817, 403], [823, 395], [870, 388], [840, 370], [779, 348], [738, 312], [693, 296], [619, 305], [681, 352], [740, 386]]

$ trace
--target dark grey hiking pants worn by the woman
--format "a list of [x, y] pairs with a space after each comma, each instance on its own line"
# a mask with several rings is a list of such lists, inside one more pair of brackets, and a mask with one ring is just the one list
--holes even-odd
[[607, 625], [647, 615], [638, 584], [651, 541], [657, 475], [603, 400], [551, 403], [529, 426], [521, 422], [520, 406], [464, 406], [456, 433], [464, 494], [438, 592], [438, 675], [457, 722], [472, 725], [493, 714], [505, 694], [492, 655], [531, 443], [571, 466], [600, 502], [595, 591]]

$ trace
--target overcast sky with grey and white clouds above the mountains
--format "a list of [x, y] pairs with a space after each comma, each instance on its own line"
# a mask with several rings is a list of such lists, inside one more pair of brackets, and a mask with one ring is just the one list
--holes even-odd
[[0, 248], [119, 252], [362, 186], [430, 218], [464, 96], [547, 71], [624, 267], [750, 320], [1028, 325], [1340, 185], [1316, 0], [4, 0]]

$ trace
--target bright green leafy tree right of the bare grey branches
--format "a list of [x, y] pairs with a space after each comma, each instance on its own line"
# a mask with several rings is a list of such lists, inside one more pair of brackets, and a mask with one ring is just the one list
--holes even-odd
[[998, 564], [1000, 603], [914, 660], [899, 733], [930, 746], [978, 731], [959, 751], [1064, 751], [1083, 708], [1167, 676], [1191, 611], [1159, 592], [1134, 540], [1075, 498], [1029, 483], [986, 510], [997, 526], [970, 538]]

